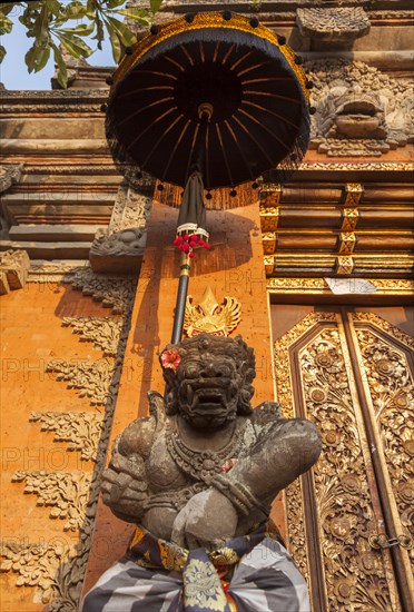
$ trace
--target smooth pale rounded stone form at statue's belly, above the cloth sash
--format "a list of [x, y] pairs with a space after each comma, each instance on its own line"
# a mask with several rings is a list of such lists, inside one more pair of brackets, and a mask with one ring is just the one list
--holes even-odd
[[235, 535], [237, 521], [231, 502], [219, 491], [209, 488], [194, 495], [178, 513], [171, 540], [189, 550], [204, 546], [211, 551]]

